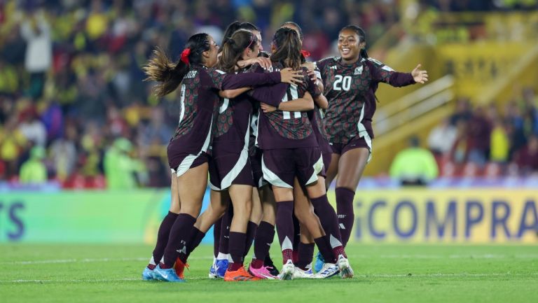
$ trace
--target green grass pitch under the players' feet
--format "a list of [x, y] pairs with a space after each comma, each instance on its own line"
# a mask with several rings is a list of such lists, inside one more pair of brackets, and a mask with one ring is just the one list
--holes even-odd
[[0, 302], [538, 302], [538, 246], [352, 244], [354, 279], [242, 283], [207, 279], [207, 245], [187, 283], [142, 281], [151, 249], [0, 245]]

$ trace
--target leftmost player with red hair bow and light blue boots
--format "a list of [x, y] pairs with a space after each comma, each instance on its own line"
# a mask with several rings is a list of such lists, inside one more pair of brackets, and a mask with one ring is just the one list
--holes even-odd
[[[195, 242], [193, 239], [201, 241], [203, 237], [193, 225], [200, 213], [207, 186], [207, 150], [212, 136], [214, 113], [218, 108], [217, 93], [220, 90], [280, 83], [281, 78], [291, 82], [290, 79], [294, 78], [294, 73], [290, 71], [268, 75], [219, 73], [210, 69], [216, 64], [218, 50], [219, 46], [211, 36], [195, 34], [188, 39], [178, 62], [170, 62], [163, 51], [157, 49], [144, 66], [147, 79], [160, 82], [155, 87], [159, 97], [173, 92], [181, 84], [181, 114], [179, 126], [167, 148], [172, 170], [170, 211], [174, 213], [179, 210], [179, 214], [175, 220], [168, 216], [163, 220], [158, 235], [164, 237], [158, 237], [150, 264], [142, 274], [143, 279], [184, 281], [177, 276], [172, 266], [178, 257], [179, 262], [181, 258], [186, 260], [187, 245]], [[238, 92], [228, 94], [227, 97], [236, 97], [237, 94]], [[165, 237], [166, 234], [169, 236]], [[162, 262], [156, 266], [157, 260]]]

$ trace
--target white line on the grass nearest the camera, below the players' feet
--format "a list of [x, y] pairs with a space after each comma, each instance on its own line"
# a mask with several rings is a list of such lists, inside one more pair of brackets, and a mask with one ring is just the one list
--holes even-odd
[[[355, 275], [355, 279], [371, 279], [371, 278], [492, 278], [492, 277], [516, 277], [516, 276], [538, 276], [538, 272], [530, 274], [512, 274], [506, 273], [490, 273], [490, 274], [359, 274]], [[191, 278], [188, 280], [206, 280], [207, 278]], [[209, 280], [209, 279], [207, 279]], [[76, 280], [0, 280], [0, 283], [102, 283], [102, 282], [125, 282], [125, 281], [142, 281], [142, 279], [123, 278], [123, 279], [76, 279]], [[158, 283], [156, 281], [144, 281], [144, 283]]]

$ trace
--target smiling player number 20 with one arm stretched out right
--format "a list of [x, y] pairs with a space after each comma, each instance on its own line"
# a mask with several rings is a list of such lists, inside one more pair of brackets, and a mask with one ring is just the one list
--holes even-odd
[[[333, 154], [326, 185], [336, 178], [336, 206], [343, 244], [353, 227], [355, 189], [372, 153], [372, 117], [375, 90], [380, 82], [394, 87], [425, 83], [427, 71], [418, 64], [411, 73], [399, 73], [366, 53], [366, 34], [360, 27], [348, 25], [340, 30], [340, 57], [317, 62], [324, 81], [329, 108], [324, 122]], [[329, 126], [330, 125], [330, 126]]]

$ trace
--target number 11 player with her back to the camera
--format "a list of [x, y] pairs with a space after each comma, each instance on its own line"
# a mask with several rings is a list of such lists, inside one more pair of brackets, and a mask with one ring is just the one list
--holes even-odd
[[[298, 34], [293, 29], [278, 29], [273, 38], [273, 67], [276, 69], [291, 67], [299, 69], [301, 66], [301, 43]], [[280, 87], [279, 87], [280, 86]], [[277, 202], [277, 234], [282, 248], [284, 266], [281, 279], [292, 279], [294, 263], [292, 261], [292, 248], [294, 240], [294, 226], [292, 214], [294, 211], [294, 179], [297, 177], [301, 186], [305, 186], [312, 202], [325, 201], [325, 186], [323, 178], [318, 174], [323, 169], [322, 155], [319, 151], [312, 125], [306, 113], [313, 108], [313, 100], [308, 93], [307, 85], [292, 85], [286, 87], [282, 101], [272, 99], [269, 106], [279, 108], [281, 111], [264, 111], [258, 119], [258, 145], [263, 150], [262, 169], [263, 177], [273, 185], [273, 192]], [[282, 90], [282, 85], [270, 87], [269, 90]], [[306, 103], [295, 102], [291, 106], [290, 99], [301, 97], [308, 100]], [[282, 104], [282, 106], [281, 106]], [[263, 105], [263, 104], [262, 104]], [[285, 108], [284, 108], [285, 107]], [[282, 109], [285, 109], [282, 111]], [[330, 206], [329, 206], [330, 207]], [[336, 215], [336, 214], [335, 214]], [[313, 237], [319, 239], [323, 247], [329, 247], [324, 242], [323, 230], [319, 227], [313, 212], [301, 213], [299, 220], [308, 227]], [[335, 218], [336, 219], [336, 218]], [[335, 220], [336, 223], [336, 220]], [[345, 257], [343, 246], [336, 248], [338, 252], [338, 265], [343, 277], [352, 277], [353, 272]], [[330, 253], [329, 253], [330, 255]], [[254, 269], [254, 272], [253, 272]], [[251, 268], [253, 274], [256, 267]]]

